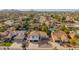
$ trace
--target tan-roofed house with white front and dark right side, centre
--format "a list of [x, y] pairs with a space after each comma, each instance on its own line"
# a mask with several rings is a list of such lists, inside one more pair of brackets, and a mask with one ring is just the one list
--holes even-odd
[[42, 32], [42, 31], [32, 31], [30, 32], [30, 34], [28, 35], [28, 40], [34, 41], [40, 41], [40, 40], [47, 40], [48, 36], [46, 34], [46, 32]]

